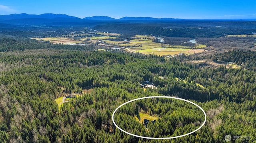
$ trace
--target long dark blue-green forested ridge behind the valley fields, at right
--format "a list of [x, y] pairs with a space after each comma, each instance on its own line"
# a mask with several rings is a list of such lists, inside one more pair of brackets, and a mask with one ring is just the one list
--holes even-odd
[[[208, 26], [203, 24], [198, 24], [197, 22], [191, 25], [176, 25], [176, 23], [171, 24], [102, 24], [97, 25], [94, 29], [99, 31], [108, 31], [112, 33], [132, 33], [132, 34], [143, 34], [143, 35], [155, 35], [155, 36], [166, 36], [166, 37], [205, 37], [205, 38], [217, 38], [222, 37], [226, 34], [244, 34], [252, 33], [256, 31], [256, 26], [253, 25], [254, 29], [249, 29], [248, 27], [237, 28], [237, 27], [227, 27], [224, 26]], [[224, 22], [225, 23], [225, 22]], [[226, 22], [228, 24], [228, 22]], [[202, 27], [199, 27], [201, 25]], [[223, 23], [221, 24], [223, 25]]]

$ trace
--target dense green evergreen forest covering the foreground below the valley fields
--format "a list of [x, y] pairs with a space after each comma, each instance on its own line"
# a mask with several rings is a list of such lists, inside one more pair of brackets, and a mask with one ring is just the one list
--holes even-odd
[[[180, 62], [182, 57], [95, 49], [1, 38], [0, 142], [225, 143], [226, 135], [246, 137], [231, 141], [235, 143], [256, 142], [254, 51], [209, 55], [248, 66], [230, 69]], [[141, 88], [144, 80], [157, 89]], [[58, 106], [55, 99], [70, 93], [80, 96]], [[163, 95], [201, 106], [207, 114], [206, 124], [191, 135], [168, 140], [133, 137], [114, 126], [112, 113], [124, 102]], [[146, 128], [134, 118], [142, 110], [161, 119]], [[172, 137], [202, 124], [204, 115], [198, 110], [177, 100], [143, 100], [126, 104], [115, 121], [137, 135]]]

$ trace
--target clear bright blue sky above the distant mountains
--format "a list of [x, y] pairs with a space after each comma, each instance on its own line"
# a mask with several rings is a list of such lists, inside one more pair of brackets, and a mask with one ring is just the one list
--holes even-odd
[[79, 18], [256, 19], [256, 0], [0, 0], [0, 15], [20, 13]]

